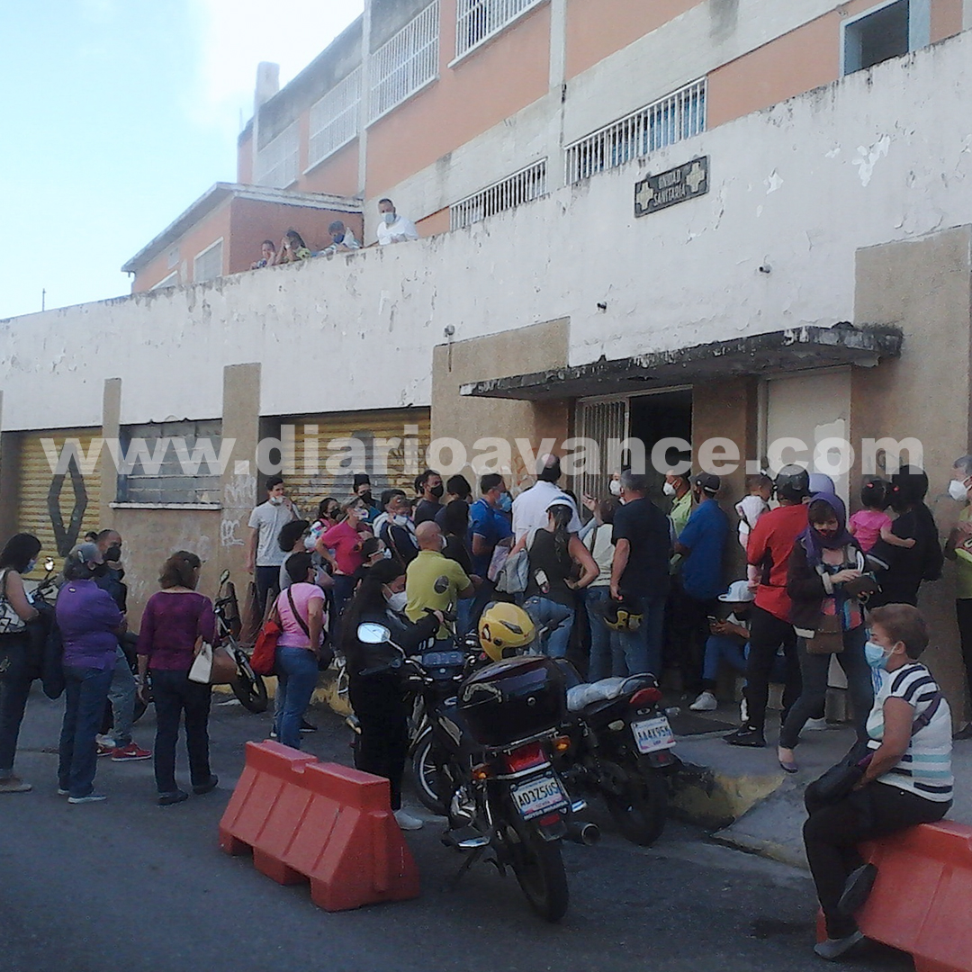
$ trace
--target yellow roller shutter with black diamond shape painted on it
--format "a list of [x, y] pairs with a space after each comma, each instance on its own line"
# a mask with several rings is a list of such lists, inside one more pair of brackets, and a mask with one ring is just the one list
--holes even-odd
[[75, 438], [88, 456], [91, 439], [100, 435], [100, 429], [58, 429], [20, 437], [17, 530], [40, 539], [42, 562], [47, 556], [67, 556], [87, 531], [99, 529], [101, 472], [95, 466], [86, 475], [74, 459], [67, 471], [52, 471], [41, 440], [52, 439], [60, 455], [65, 440]]

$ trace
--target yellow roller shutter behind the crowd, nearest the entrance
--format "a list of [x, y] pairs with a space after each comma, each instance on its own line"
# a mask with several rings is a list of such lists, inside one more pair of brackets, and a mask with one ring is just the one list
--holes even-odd
[[[285, 454], [287, 465], [284, 475], [291, 496], [302, 513], [313, 514], [317, 503], [326, 496], [333, 496], [340, 501], [350, 496], [355, 472], [367, 472], [371, 477], [371, 489], [375, 498], [383, 489], [391, 486], [399, 486], [408, 496], [412, 496], [413, 480], [425, 468], [426, 452], [431, 438], [428, 408], [303, 415], [284, 421], [295, 426], [294, 451], [291, 453], [287, 450]], [[418, 428], [415, 436], [417, 443], [409, 443], [408, 456], [404, 441], [406, 426]], [[333, 463], [340, 458], [342, 452], [344, 455], [349, 453], [340, 448], [329, 449], [329, 444], [334, 439], [342, 438], [357, 439], [363, 444], [364, 462], [356, 462], [353, 469], [346, 463], [347, 468], [335, 474], [327, 468], [328, 460], [331, 459]], [[379, 469], [377, 450], [374, 448], [376, 439], [399, 439], [399, 444], [387, 452], [385, 469]], [[287, 472], [286, 469], [294, 471]]]

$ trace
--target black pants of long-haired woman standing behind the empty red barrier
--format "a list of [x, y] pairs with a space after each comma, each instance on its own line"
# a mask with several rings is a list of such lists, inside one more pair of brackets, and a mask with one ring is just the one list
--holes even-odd
[[401, 778], [408, 758], [408, 713], [397, 676], [351, 677], [348, 700], [362, 734], [355, 765], [391, 784], [392, 810], [401, 807]]

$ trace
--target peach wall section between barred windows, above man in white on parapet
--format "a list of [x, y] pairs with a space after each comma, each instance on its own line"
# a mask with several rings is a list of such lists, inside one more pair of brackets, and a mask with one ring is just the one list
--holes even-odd
[[549, 5], [449, 68], [455, 39], [456, 3], [443, 0], [439, 79], [368, 129], [366, 198], [391, 191], [546, 94]]

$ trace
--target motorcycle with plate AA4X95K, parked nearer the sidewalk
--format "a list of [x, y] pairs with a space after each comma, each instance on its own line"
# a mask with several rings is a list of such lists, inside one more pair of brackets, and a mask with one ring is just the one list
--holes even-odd
[[666, 777], [680, 766], [658, 683], [636, 675], [582, 684], [569, 662], [561, 665], [573, 675], [564, 725], [570, 746], [555, 764], [571, 792], [602, 797], [622, 836], [650, 847], [665, 828]]

